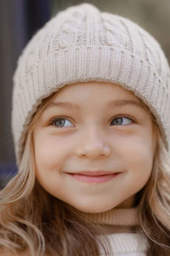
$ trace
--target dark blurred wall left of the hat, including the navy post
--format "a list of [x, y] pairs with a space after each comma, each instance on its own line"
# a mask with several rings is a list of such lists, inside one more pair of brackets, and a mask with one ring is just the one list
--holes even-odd
[[0, 0], [0, 167], [15, 160], [11, 96], [17, 58], [50, 15], [50, 0]]

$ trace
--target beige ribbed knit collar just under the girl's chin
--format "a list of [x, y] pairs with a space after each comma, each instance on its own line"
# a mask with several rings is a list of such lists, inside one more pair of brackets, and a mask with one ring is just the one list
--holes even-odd
[[113, 208], [106, 212], [91, 213], [89, 218], [99, 224], [109, 224], [114, 226], [136, 226], [138, 225], [136, 217], [137, 208], [117, 209]]

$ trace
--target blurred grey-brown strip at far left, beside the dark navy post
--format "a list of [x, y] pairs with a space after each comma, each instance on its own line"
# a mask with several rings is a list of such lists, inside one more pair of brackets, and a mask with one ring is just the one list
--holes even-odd
[[12, 76], [28, 41], [24, 1], [0, 0], [0, 162], [14, 160], [11, 136]]

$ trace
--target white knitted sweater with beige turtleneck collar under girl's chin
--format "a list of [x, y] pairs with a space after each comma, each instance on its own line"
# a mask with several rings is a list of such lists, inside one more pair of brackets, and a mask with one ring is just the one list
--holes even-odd
[[[110, 256], [145, 256], [148, 247], [146, 236], [140, 231], [136, 208], [111, 209], [91, 214], [91, 219], [105, 224], [111, 244]], [[139, 231], [133, 231], [133, 230]]]

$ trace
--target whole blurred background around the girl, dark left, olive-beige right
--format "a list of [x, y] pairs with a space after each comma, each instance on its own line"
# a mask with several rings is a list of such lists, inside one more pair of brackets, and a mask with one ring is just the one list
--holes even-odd
[[[0, 0], [0, 189], [15, 175], [11, 135], [12, 77], [29, 39], [57, 12], [80, 0]], [[170, 0], [91, 0], [103, 12], [138, 23], [161, 44], [170, 62]]]

